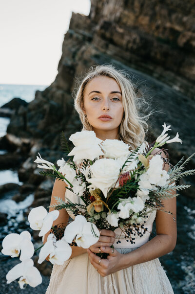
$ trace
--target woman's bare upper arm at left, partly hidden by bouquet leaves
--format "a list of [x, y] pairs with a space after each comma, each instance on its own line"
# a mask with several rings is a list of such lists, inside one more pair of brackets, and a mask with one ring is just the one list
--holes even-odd
[[[55, 196], [58, 196], [59, 198], [64, 200], [66, 187], [67, 187], [67, 184], [64, 181], [56, 179], [56, 181], [54, 183], [54, 186], [53, 186], [53, 190], [52, 190], [52, 196], [51, 196], [50, 205], [57, 204], [57, 200], [54, 198]], [[53, 210], [55, 210], [53, 207], [49, 208], [49, 212], [53, 211]], [[53, 226], [59, 225], [59, 224], [62, 224], [62, 223], [65, 223], [65, 225], [66, 225], [68, 220], [69, 220], [69, 214], [66, 211], [66, 209], [65, 208], [60, 209], [59, 210], [59, 217], [53, 222]], [[48, 237], [49, 234], [50, 234], [50, 231], [45, 234], [43, 244], [47, 241], [47, 237]]]

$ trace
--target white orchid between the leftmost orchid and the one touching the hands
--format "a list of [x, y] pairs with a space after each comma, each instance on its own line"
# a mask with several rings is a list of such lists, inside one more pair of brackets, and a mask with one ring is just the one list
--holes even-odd
[[72, 248], [65, 241], [64, 237], [56, 241], [56, 236], [49, 234], [47, 242], [40, 249], [38, 263], [42, 263], [49, 255], [48, 259], [52, 264], [62, 265], [64, 261], [70, 258], [71, 254]]

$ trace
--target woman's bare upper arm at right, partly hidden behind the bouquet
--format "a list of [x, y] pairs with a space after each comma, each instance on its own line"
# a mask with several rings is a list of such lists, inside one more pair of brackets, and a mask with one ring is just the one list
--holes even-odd
[[[155, 148], [155, 150], [152, 152], [153, 155], [160, 154], [161, 157], [167, 158], [166, 154], [161, 151], [159, 148]], [[169, 170], [169, 164], [164, 164], [164, 169], [166, 171]], [[171, 193], [172, 195], [176, 194], [176, 191], [173, 191]], [[176, 246], [176, 197], [162, 200], [161, 204], [163, 204], [164, 207], [162, 207], [165, 211], [170, 211], [173, 213], [168, 214], [166, 212], [163, 212], [161, 210], [156, 211], [156, 234], [167, 234], [171, 237], [171, 242], [173, 244], [173, 249]], [[175, 218], [175, 221], [173, 220]]]

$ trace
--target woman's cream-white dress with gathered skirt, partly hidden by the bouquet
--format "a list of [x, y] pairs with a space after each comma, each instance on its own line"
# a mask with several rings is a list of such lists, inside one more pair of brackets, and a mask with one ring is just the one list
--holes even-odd
[[[75, 194], [73, 199], [73, 193], [68, 189], [65, 195], [73, 202], [78, 203], [80, 200]], [[72, 219], [75, 218], [72, 213], [69, 215]], [[120, 236], [121, 243], [117, 244], [117, 238], [121, 234], [121, 229], [117, 228], [114, 248], [125, 254], [148, 242], [155, 217], [156, 211], [150, 213], [144, 225], [148, 227], [148, 232], [141, 238], [137, 237], [134, 240], [136, 244], [133, 245], [124, 239], [123, 234]], [[61, 266], [53, 266], [45, 294], [174, 294], [174, 292], [158, 258], [102, 277], [90, 263], [88, 254], [84, 253], [69, 258]]]

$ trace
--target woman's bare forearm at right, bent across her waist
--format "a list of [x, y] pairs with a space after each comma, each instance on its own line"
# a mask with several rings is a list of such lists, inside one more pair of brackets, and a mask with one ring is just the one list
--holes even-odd
[[156, 235], [152, 240], [143, 246], [129, 253], [123, 254], [121, 268], [125, 269], [143, 262], [153, 260], [171, 252], [175, 248], [176, 242], [166, 234]]

